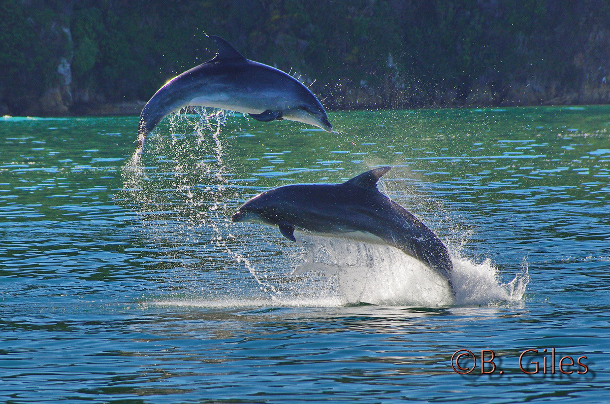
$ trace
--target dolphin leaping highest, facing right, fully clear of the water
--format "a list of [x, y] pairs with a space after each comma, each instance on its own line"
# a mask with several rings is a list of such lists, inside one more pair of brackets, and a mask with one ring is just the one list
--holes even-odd
[[265, 122], [300, 121], [332, 132], [324, 107], [303, 83], [274, 67], [246, 59], [223, 38], [210, 38], [218, 46], [218, 54], [168, 81], [144, 106], [138, 151], [163, 118], [186, 106], [243, 112]]

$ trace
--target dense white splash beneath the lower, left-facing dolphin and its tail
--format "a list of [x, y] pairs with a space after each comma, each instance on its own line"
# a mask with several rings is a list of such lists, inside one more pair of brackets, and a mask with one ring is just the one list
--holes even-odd
[[520, 301], [529, 280], [525, 262], [512, 281], [502, 284], [499, 270], [489, 260], [476, 264], [454, 254], [453, 298], [442, 275], [397, 248], [310, 235], [298, 240], [303, 262], [293, 275], [316, 272], [331, 278], [345, 304], [493, 305]]

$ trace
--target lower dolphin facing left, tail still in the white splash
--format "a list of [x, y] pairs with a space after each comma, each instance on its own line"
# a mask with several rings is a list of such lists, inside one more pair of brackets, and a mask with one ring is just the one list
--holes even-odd
[[437, 270], [455, 295], [447, 247], [418, 218], [377, 189], [377, 181], [391, 168], [375, 168], [342, 184], [271, 189], [243, 204], [232, 220], [279, 226], [284, 237], [292, 241], [296, 241], [297, 229], [392, 245]]

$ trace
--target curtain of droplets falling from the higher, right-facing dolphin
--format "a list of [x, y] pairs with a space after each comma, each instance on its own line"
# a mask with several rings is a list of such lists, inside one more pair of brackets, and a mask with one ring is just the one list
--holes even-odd
[[[200, 256], [206, 261], [224, 254], [233, 264], [245, 266], [264, 292], [274, 292], [254, 265], [231, 247], [231, 212], [239, 195], [228, 181], [230, 167], [221, 137], [231, 114], [206, 108], [189, 112], [195, 114], [171, 115], [169, 141], [149, 140], [145, 159], [134, 158], [123, 168], [123, 198], [151, 230], [147, 237], [155, 239], [160, 250], [173, 253], [170, 258], [193, 261]], [[156, 159], [157, 167], [143, 167], [142, 161], [149, 159]], [[183, 264], [198, 270], [196, 263]]]

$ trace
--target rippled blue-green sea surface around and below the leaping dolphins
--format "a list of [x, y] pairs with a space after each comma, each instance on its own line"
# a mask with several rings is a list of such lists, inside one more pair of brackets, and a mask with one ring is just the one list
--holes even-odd
[[[329, 118], [173, 115], [140, 159], [137, 117], [0, 118], [0, 402], [608, 402], [610, 106]], [[455, 298], [395, 248], [230, 220], [379, 165]]]

